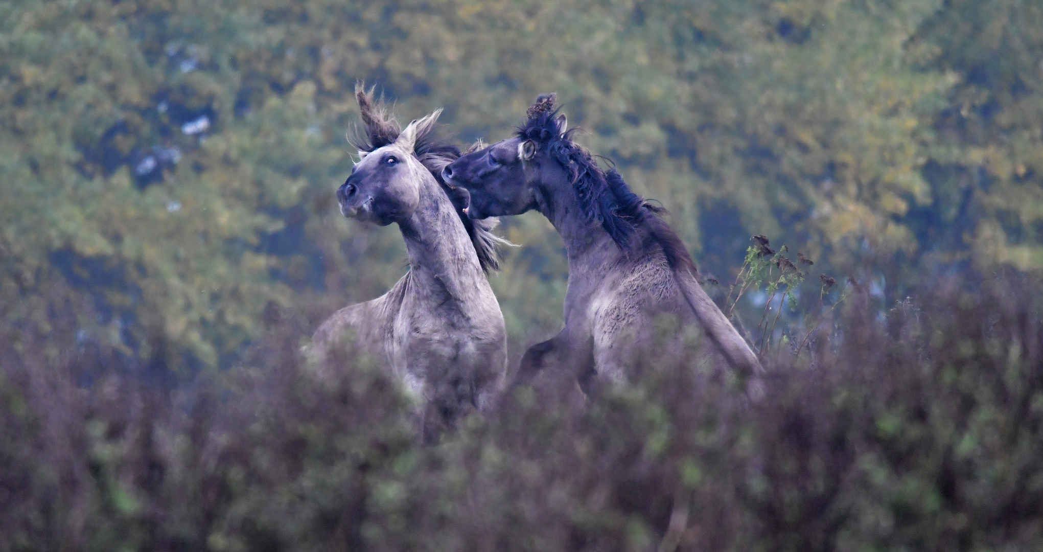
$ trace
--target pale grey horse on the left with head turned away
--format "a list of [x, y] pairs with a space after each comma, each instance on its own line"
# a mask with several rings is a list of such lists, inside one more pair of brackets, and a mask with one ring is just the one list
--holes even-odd
[[340, 210], [374, 224], [396, 222], [409, 272], [386, 294], [334, 313], [313, 342], [325, 352], [354, 336], [417, 399], [421, 433], [430, 440], [487, 406], [503, 382], [504, 317], [485, 274], [498, 267], [503, 240], [489, 222], [466, 217], [466, 192], [436, 178], [460, 155], [433, 138], [440, 110], [399, 131], [372, 91], [357, 88], [356, 97], [365, 136], [354, 141], [361, 161], [337, 190]]

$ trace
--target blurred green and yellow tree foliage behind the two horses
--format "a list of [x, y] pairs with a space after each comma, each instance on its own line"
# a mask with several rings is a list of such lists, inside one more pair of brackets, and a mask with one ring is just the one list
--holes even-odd
[[[722, 281], [751, 234], [872, 258], [893, 297], [936, 266], [1043, 268], [1038, 3], [21, 0], [0, 4], [17, 339], [87, 297], [81, 343], [227, 365], [266, 313], [382, 293], [395, 230], [333, 201], [358, 79], [407, 120], [445, 107], [462, 141], [558, 92]], [[493, 278], [518, 347], [556, 330], [565, 266], [540, 217], [504, 234], [525, 245]]]

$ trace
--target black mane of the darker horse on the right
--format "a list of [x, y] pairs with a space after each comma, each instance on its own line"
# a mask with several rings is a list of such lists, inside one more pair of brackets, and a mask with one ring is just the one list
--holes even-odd
[[[526, 122], [517, 127], [517, 137], [532, 140], [568, 173], [576, 188], [583, 215], [600, 222], [612, 241], [624, 251], [631, 251], [649, 240], [662, 247], [666, 262], [674, 269], [688, 270], [696, 279], [699, 270], [677, 233], [661, 218], [665, 209], [656, 207], [635, 194], [615, 168], [607, 171], [598, 166], [590, 153], [573, 142], [576, 128], [559, 131], [556, 121], [560, 107], [555, 106], [555, 94], [543, 94], [526, 112]], [[639, 236], [638, 230], [644, 230]], [[640, 239], [638, 242], [637, 239]]]

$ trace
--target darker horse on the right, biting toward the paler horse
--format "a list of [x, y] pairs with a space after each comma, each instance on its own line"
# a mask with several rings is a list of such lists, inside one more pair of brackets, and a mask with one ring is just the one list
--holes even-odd
[[[674, 334], [701, 330], [696, 360], [760, 370], [757, 357], [698, 282], [684, 244], [662, 210], [634, 194], [614, 169], [603, 170], [572, 140], [555, 95], [537, 98], [508, 140], [466, 153], [442, 175], [470, 193], [474, 219], [535, 209], [564, 239], [568, 255], [565, 327], [530, 347], [516, 382], [550, 363], [577, 369], [584, 389], [596, 380], [626, 381], [657, 319], [681, 322]], [[680, 342], [680, 341], [678, 341]], [[553, 359], [553, 360], [552, 360]]]

